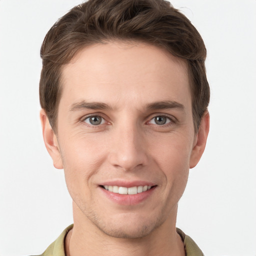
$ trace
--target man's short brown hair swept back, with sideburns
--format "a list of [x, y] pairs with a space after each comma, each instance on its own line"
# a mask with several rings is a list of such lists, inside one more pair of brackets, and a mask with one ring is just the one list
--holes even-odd
[[47, 32], [40, 50], [41, 107], [56, 131], [61, 66], [81, 48], [110, 40], [142, 41], [187, 61], [195, 131], [209, 103], [203, 40], [191, 22], [165, 0], [88, 0]]

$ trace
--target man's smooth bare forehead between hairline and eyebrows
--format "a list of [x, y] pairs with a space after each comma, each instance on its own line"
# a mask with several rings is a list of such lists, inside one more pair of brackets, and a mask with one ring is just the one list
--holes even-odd
[[84, 98], [107, 104], [191, 101], [185, 60], [140, 42], [84, 47], [62, 67], [61, 85], [60, 103], [69, 105]]

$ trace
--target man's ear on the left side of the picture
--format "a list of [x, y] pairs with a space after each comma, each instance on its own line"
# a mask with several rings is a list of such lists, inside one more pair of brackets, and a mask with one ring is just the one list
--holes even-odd
[[44, 109], [40, 110], [40, 120], [42, 126], [42, 136], [44, 140], [45, 147], [53, 161], [53, 165], [57, 169], [62, 169], [62, 159], [59, 151], [59, 145], [57, 142], [57, 137], [54, 134], [51, 125], [49, 123], [48, 117]]

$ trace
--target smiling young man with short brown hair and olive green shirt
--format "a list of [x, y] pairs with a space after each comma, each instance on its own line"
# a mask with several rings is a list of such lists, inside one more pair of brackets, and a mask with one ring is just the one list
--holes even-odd
[[175, 223], [209, 129], [205, 56], [164, 0], [89, 0], [51, 27], [40, 118], [74, 223], [42, 255], [202, 255]]

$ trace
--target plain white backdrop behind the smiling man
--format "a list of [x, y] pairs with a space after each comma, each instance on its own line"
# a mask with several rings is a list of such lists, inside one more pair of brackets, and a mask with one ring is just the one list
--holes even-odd
[[[41, 42], [79, 0], [0, 0], [0, 255], [40, 254], [72, 223], [39, 122]], [[173, 0], [207, 47], [211, 127], [177, 226], [205, 255], [256, 255], [256, 0]]]

